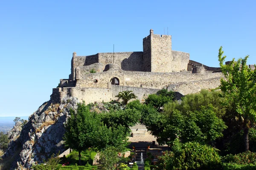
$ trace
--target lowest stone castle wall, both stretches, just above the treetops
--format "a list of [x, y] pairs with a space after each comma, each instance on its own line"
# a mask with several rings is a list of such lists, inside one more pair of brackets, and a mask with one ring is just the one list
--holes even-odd
[[[179, 82], [171, 84], [167, 87], [168, 90], [176, 91], [176, 99], [181, 96], [197, 93], [201, 89], [216, 88], [220, 85], [221, 77], [211, 79], [202, 79], [192, 82]], [[51, 99], [53, 102], [60, 103], [66, 95], [73, 96], [79, 99], [79, 102], [84, 101], [85, 104], [93, 102], [110, 102], [117, 100], [115, 97], [120, 91], [133, 91], [140, 102], [144, 102], [149, 94], [155, 94], [160, 89], [140, 88], [131, 86], [111, 85], [109, 88], [88, 88], [88, 87], [70, 87], [70, 88], [53, 88]]]

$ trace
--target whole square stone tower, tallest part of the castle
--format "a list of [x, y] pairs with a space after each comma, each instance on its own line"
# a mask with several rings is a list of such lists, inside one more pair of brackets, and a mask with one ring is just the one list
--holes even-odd
[[[143, 39], [143, 62], [145, 71], [172, 72], [172, 36], [154, 34], [151, 29]], [[180, 71], [180, 70], [179, 70]]]

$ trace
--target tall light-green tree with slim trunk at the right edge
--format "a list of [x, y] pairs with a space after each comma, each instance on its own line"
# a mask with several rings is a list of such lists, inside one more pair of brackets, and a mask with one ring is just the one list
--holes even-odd
[[245, 151], [249, 150], [248, 133], [249, 128], [256, 122], [256, 83], [255, 70], [251, 70], [247, 65], [247, 59], [233, 59], [230, 64], [224, 65], [226, 56], [222, 56], [224, 51], [219, 49], [218, 60], [224, 79], [221, 79], [221, 91], [225, 94], [227, 102], [232, 102], [242, 120], [244, 130]]

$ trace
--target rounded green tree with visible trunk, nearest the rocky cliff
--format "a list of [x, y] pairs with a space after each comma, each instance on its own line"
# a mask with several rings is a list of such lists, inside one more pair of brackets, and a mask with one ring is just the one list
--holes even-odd
[[65, 125], [65, 144], [79, 152], [79, 164], [81, 164], [81, 151], [95, 144], [99, 125], [99, 116], [90, 112], [84, 103], [78, 104], [77, 111], [70, 110], [70, 118]]

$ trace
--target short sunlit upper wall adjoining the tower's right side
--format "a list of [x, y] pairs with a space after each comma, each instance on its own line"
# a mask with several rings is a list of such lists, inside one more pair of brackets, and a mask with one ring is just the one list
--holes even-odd
[[181, 51], [172, 51], [172, 70], [173, 71], [191, 71], [188, 70], [189, 53]]

